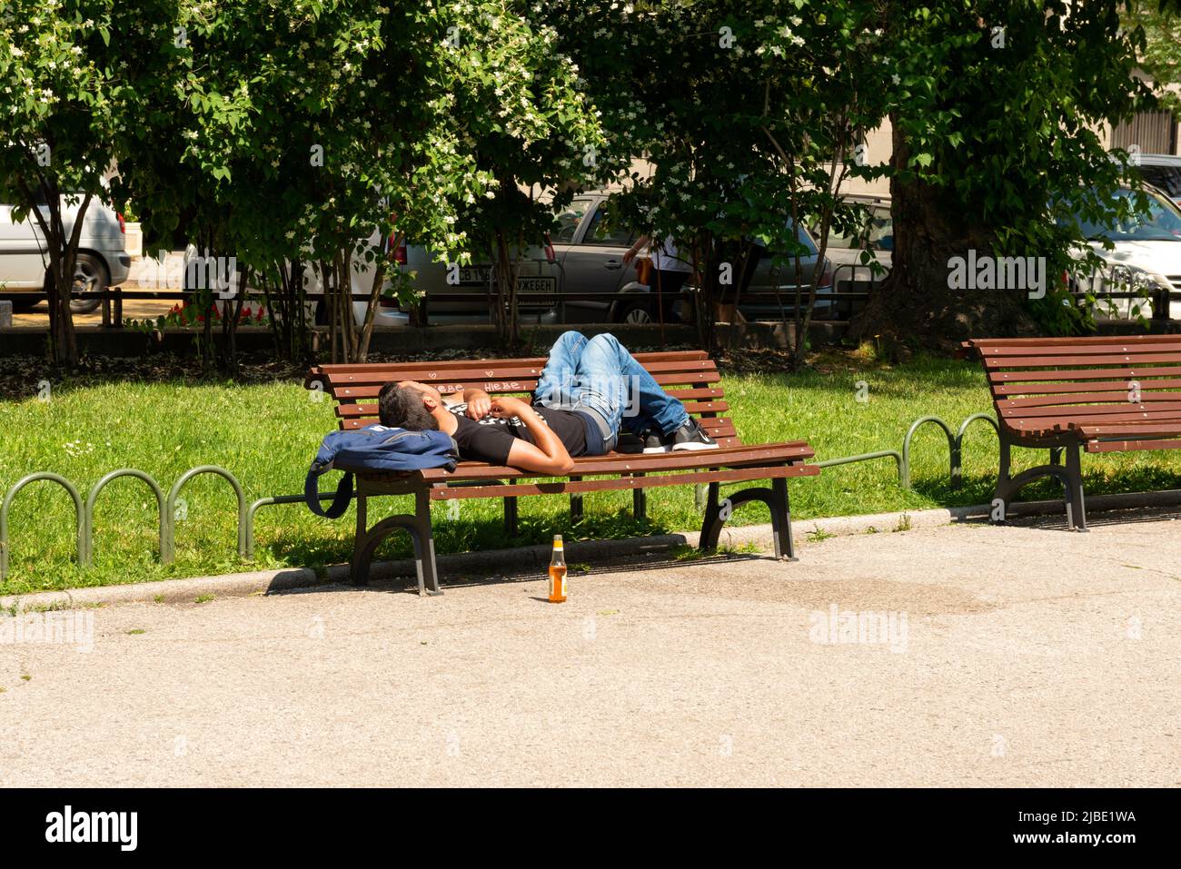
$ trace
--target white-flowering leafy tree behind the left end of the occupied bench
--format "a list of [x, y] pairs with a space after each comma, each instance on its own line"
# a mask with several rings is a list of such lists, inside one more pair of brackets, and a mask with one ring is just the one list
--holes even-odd
[[[437, 13], [400, 17], [364, 0], [197, 2], [185, 7], [182, 33], [184, 74], [146, 102], [158, 123], [137, 131], [138, 148], [120, 164], [145, 237], [233, 255], [240, 287], [265, 294], [288, 353], [308, 349], [311, 263], [332, 357], [364, 358], [386, 273], [381, 240], [459, 246], [449, 203], [487, 183], [435, 99]], [[359, 329], [353, 255], [371, 275]], [[214, 294], [203, 295], [211, 306]], [[241, 303], [239, 295], [222, 318], [230, 337]]]

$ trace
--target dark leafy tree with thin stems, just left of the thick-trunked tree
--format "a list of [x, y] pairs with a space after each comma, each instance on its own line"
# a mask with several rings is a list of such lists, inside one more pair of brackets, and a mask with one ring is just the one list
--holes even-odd
[[740, 275], [768, 256], [801, 361], [823, 270], [804, 275], [794, 228], [818, 230], [823, 261], [834, 221], [855, 218], [836, 194], [868, 172], [856, 146], [885, 112], [875, 4], [572, 2], [559, 15], [613, 143], [652, 166], [620, 220], [692, 257], [700, 340], [713, 344], [719, 306], [740, 303]]

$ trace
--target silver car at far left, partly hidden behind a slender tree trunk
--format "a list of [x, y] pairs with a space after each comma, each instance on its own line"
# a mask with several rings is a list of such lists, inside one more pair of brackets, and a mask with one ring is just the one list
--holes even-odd
[[[61, 197], [61, 222], [67, 234], [73, 231], [78, 205]], [[48, 220], [48, 205], [40, 205]], [[13, 205], [0, 205], [0, 299], [13, 302], [14, 308], [30, 308], [46, 299], [45, 272], [50, 266], [45, 236], [30, 214], [17, 223]], [[93, 293], [123, 283], [131, 270], [126, 253], [126, 226], [113, 209], [91, 200], [78, 240], [74, 262], [74, 293]], [[76, 299], [70, 308], [76, 314], [89, 314], [102, 303], [100, 299]]]

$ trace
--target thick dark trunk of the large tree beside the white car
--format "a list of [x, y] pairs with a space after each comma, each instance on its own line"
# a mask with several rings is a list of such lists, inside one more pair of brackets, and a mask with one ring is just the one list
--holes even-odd
[[[892, 116], [899, 170], [909, 148]], [[853, 318], [854, 339], [882, 337], [888, 344], [916, 339], [925, 347], [954, 349], [967, 338], [998, 338], [1032, 332], [1020, 290], [950, 287], [952, 257], [993, 254], [993, 235], [981, 216], [955, 201], [945, 188], [921, 177], [890, 178], [894, 250], [890, 273], [874, 287], [864, 309]]]

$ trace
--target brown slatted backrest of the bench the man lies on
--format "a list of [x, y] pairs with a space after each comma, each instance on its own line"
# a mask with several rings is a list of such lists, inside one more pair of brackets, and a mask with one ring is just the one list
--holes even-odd
[[[635, 360], [665, 392], [684, 401], [685, 409], [700, 419], [720, 445], [742, 443], [733, 423], [719, 416], [730, 406], [717, 365], [704, 351], [637, 353]], [[478, 386], [492, 396], [528, 394], [536, 387], [544, 365], [546, 357], [320, 365], [308, 372], [304, 385], [335, 400], [341, 429], [360, 429], [377, 422], [377, 396], [391, 380], [429, 383], [443, 394], [466, 386]]]

